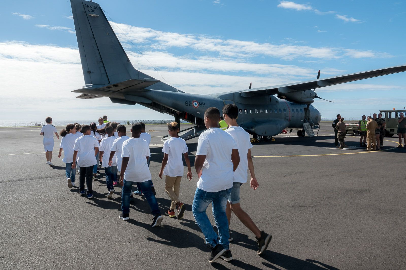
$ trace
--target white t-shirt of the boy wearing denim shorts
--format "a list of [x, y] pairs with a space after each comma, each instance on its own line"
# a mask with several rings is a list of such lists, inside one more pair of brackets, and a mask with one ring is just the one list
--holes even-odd
[[233, 136], [237, 142], [238, 153], [240, 154], [240, 163], [234, 172], [234, 182], [246, 183], [247, 182], [247, 170], [248, 170], [248, 149], [253, 148], [250, 142], [250, 135], [241, 127], [231, 126], [225, 130], [228, 134]]

